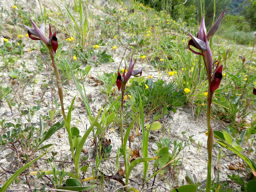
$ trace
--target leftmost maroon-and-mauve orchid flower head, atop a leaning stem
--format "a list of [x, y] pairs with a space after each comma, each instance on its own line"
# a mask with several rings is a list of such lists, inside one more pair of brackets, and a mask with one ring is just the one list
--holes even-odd
[[56, 37], [56, 32], [52, 34], [50, 24], [49, 24], [49, 39], [47, 39], [47, 37], [44, 34], [44, 30], [45, 30], [44, 21], [40, 28], [36, 25], [36, 23], [34, 23], [34, 21], [31, 18], [30, 18], [30, 21], [32, 23], [33, 28], [30, 28], [24, 25], [24, 27], [26, 27], [28, 30], [28, 36], [32, 40], [41, 40], [49, 49], [53, 50], [54, 53], [56, 53], [56, 50], [58, 48], [58, 39]]

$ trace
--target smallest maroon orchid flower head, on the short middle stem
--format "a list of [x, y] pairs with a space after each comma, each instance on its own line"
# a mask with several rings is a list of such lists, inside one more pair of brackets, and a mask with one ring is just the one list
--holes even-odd
[[122, 90], [125, 89], [125, 86], [131, 76], [139, 77], [142, 75], [142, 70], [144, 69], [145, 66], [143, 66], [139, 69], [133, 69], [136, 61], [137, 61], [137, 59], [133, 63], [133, 55], [132, 55], [132, 58], [131, 58], [130, 64], [129, 64], [129, 70], [127, 71], [127, 74], [125, 74], [126, 68], [124, 68], [123, 75], [121, 75], [121, 73], [118, 71], [118, 76], [117, 76], [117, 81], [116, 81], [118, 91], [120, 90], [121, 87], [122, 87]]

